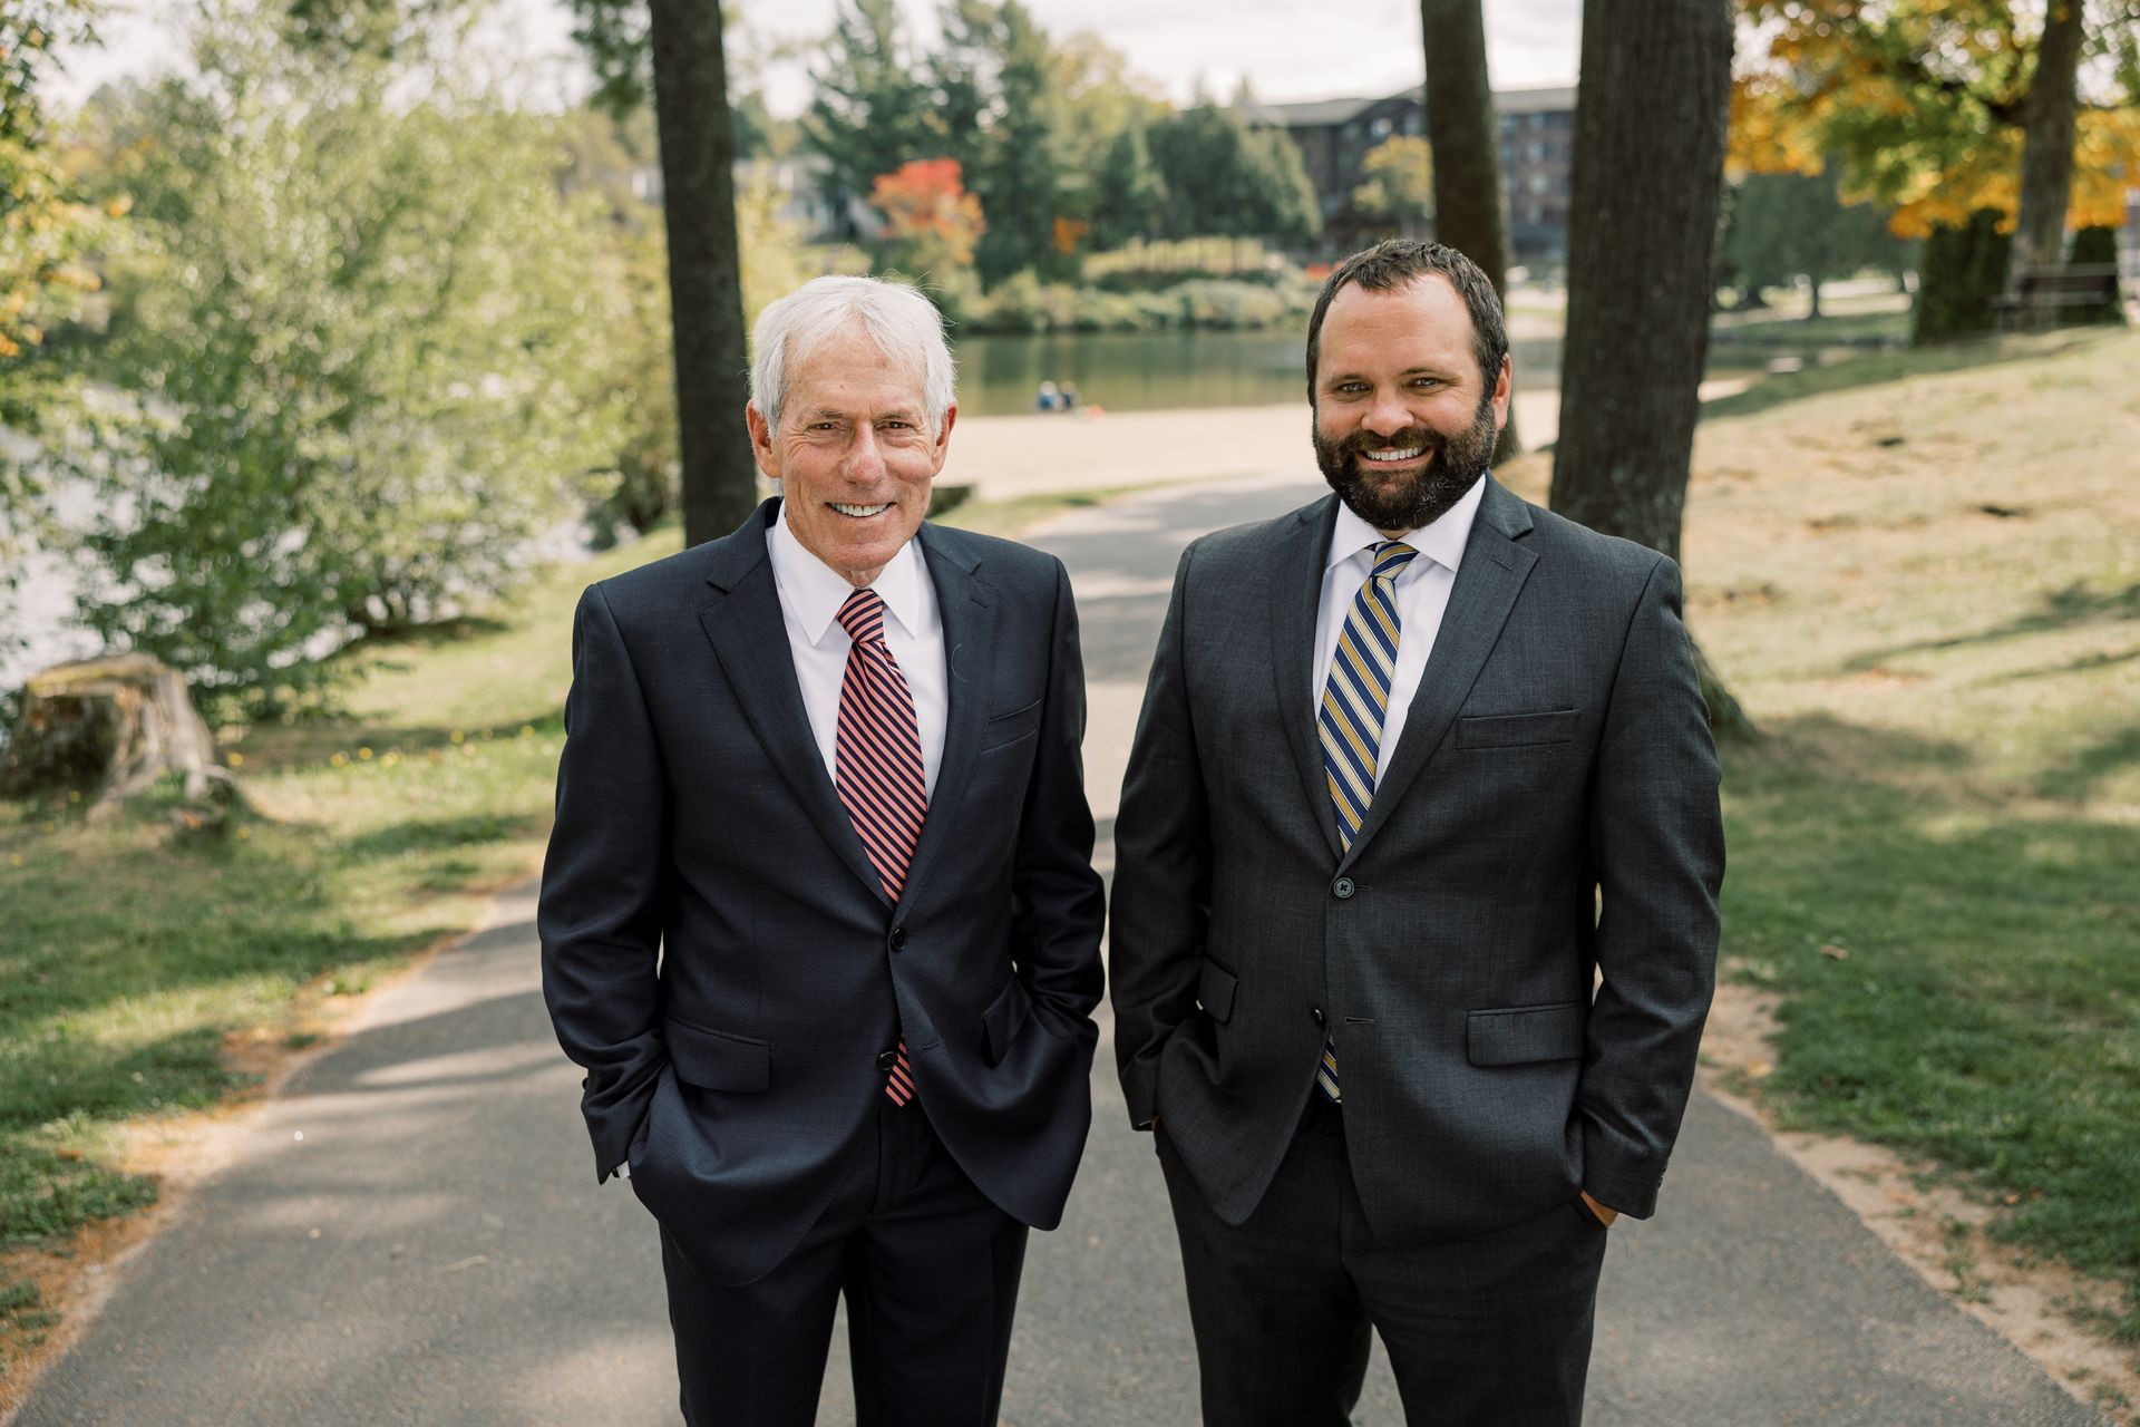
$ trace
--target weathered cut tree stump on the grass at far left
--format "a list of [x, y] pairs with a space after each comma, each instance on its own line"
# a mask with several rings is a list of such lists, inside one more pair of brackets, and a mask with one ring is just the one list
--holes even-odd
[[0, 794], [94, 787], [88, 815], [103, 817], [165, 772], [184, 777], [186, 802], [244, 802], [186, 678], [152, 655], [113, 655], [30, 676], [0, 764]]

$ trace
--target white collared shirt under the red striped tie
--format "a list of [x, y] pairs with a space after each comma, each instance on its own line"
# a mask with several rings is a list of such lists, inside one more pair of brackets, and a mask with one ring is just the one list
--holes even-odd
[[[802, 548], [788, 528], [785, 505], [781, 518], [773, 522], [766, 552], [773, 558], [773, 582], [781, 593], [781, 620], [788, 627], [796, 682], [802, 685], [809, 732], [817, 738], [826, 777], [837, 779], [839, 685], [847, 676], [847, 650], [854, 648], [854, 640], [839, 623], [839, 608], [854, 586]], [[884, 599], [884, 642], [914, 693], [914, 723], [922, 738], [922, 783], [933, 798], [935, 774], [944, 764], [950, 695], [944, 674], [944, 616], [937, 610], [935, 582], [922, 563], [920, 541], [910, 539], [901, 546], [869, 588]]]

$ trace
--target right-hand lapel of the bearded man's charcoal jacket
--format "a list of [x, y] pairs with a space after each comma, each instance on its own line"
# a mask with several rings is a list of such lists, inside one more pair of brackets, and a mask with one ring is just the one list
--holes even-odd
[[[1464, 541], [1464, 561], [1449, 590], [1434, 653], [1427, 655], [1419, 691], [1404, 715], [1404, 734], [1397, 736], [1397, 749], [1374, 783], [1367, 817], [1340, 866], [1350, 866], [1367, 839], [1389, 822], [1389, 811], [1404, 800], [1404, 789], [1427, 766], [1427, 757], [1440, 747], [1464, 700], [1470, 697], [1470, 687], [1479, 682], [1479, 672], [1500, 640], [1500, 627], [1509, 623], [1515, 597], [1524, 590], [1530, 567], [1539, 563], [1537, 554], [1517, 543], [1528, 533], [1530, 509], [1492, 475], [1485, 477], [1485, 496], [1479, 501], [1470, 539]], [[1316, 757], [1320, 759], [1320, 747]]]

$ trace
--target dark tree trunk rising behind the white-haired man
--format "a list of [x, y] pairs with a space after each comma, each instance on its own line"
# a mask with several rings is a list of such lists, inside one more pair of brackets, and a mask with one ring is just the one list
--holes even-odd
[[721, 6], [651, 0], [651, 17], [683, 539], [698, 546], [728, 535], [758, 503], [758, 464], [743, 421], [751, 385], [736, 250], [736, 131], [728, 118]]

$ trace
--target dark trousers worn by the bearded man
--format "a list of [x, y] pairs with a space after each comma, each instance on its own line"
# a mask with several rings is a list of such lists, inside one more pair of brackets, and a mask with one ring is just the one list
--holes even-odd
[[1581, 1198], [1455, 1243], [1376, 1243], [1320, 1093], [1248, 1222], [1160, 1125], [1207, 1427], [1344, 1427], [1382, 1335], [1412, 1427], [1575, 1427], [1605, 1226]]

